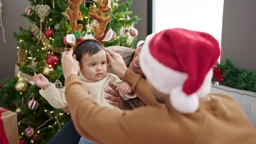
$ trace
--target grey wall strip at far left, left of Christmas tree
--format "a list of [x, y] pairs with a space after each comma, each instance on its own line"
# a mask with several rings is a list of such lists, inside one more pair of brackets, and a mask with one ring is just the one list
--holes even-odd
[[0, 28], [0, 80], [14, 76], [15, 63], [17, 61], [17, 44], [13, 32], [19, 32], [19, 26], [27, 28], [29, 21], [21, 17], [25, 8], [29, 6], [28, 0], [4, 0], [2, 1], [2, 24], [4, 25], [5, 41], [2, 28]]

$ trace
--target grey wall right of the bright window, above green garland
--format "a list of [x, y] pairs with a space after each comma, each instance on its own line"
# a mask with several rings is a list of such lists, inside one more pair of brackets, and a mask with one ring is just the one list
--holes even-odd
[[222, 26], [223, 58], [235, 67], [256, 72], [256, 1], [225, 0]]

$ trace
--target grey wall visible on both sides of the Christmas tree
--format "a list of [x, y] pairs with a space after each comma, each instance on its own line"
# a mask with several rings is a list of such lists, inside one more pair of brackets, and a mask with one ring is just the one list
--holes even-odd
[[[123, 2], [124, 0], [120, 1]], [[13, 32], [19, 32], [19, 26], [28, 28], [29, 21], [20, 16], [25, 13], [25, 8], [29, 6], [28, 0], [4, 0], [2, 1], [2, 22], [5, 31], [5, 40], [2, 37], [2, 28], [0, 28], [0, 80], [14, 76], [15, 63], [17, 61], [17, 44], [13, 37]], [[133, 0], [133, 5], [129, 9], [134, 15], [138, 15], [141, 20], [135, 25], [138, 29], [138, 40], [144, 40], [147, 35], [147, 0]]]

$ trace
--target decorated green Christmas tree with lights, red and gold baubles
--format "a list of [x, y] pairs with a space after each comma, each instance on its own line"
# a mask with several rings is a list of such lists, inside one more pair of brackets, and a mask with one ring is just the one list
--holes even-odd
[[[74, 0], [75, 1], [75, 0]], [[14, 33], [17, 41], [18, 59], [13, 79], [4, 79], [0, 83], [0, 99], [4, 107], [17, 113], [20, 143], [47, 143], [61, 127], [70, 121], [69, 113], [62, 109], [54, 109], [39, 94], [39, 89], [32, 76], [42, 73], [55, 83], [57, 88], [63, 88], [64, 77], [61, 68], [61, 53], [69, 50], [65, 37], [72, 34], [70, 18], [66, 9], [73, 10], [67, 0], [35, 1], [26, 8], [23, 17], [29, 19], [34, 26]], [[132, 0], [122, 4], [109, 0], [111, 8], [106, 16], [112, 20], [106, 29], [112, 29], [112, 39], [104, 45], [133, 47], [138, 31], [134, 25], [138, 16], [129, 17]], [[83, 1], [79, 5], [84, 25], [82, 32], [93, 34], [93, 27], [99, 23], [88, 16], [90, 8], [97, 8], [97, 1]]]

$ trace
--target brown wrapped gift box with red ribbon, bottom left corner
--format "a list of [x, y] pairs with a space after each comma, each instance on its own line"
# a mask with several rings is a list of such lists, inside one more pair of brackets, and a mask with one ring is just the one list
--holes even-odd
[[0, 143], [19, 144], [17, 113], [0, 107]]

